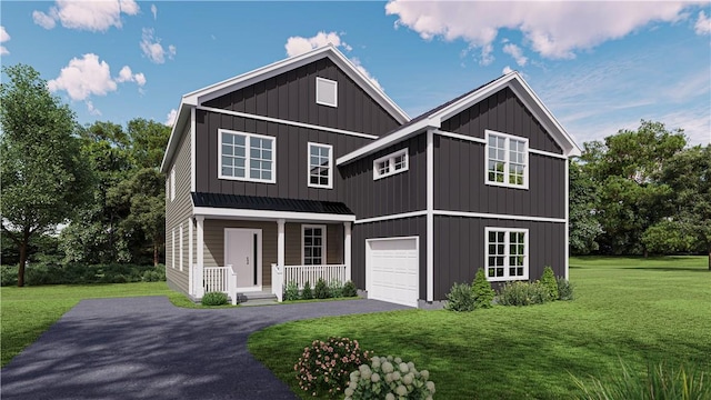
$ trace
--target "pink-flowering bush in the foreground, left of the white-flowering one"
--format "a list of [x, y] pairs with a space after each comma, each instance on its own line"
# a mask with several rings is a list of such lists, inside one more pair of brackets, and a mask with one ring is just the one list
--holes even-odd
[[326, 342], [314, 340], [293, 366], [299, 387], [312, 396], [328, 392], [336, 398], [343, 392], [351, 371], [368, 362], [358, 340], [329, 338]]

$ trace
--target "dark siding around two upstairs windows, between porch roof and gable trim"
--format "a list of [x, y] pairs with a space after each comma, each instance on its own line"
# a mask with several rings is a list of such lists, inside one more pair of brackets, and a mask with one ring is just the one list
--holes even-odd
[[[308, 142], [333, 146], [336, 159], [370, 139], [198, 110], [196, 113], [196, 190], [199, 192], [343, 201], [343, 181], [333, 171], [333, 189], [309, 188]], [[277, 183], [218, 179], [218, 129], [277, 138]]]

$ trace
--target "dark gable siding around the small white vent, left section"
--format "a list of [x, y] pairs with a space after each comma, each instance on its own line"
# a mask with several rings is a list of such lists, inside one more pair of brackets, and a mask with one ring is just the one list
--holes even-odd
[[[338, 82], [338, 108], [316, 103], [317, 77]], [[204, 106], [375, 136], [399, 126], [328, 58], [210, 100]]]

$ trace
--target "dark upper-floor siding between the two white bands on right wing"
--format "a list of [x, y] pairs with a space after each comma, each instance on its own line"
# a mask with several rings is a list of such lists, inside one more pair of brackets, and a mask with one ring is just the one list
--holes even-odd
[[434, 209], [565, 218], [565, 160], [529, 154], [529, 189], [484, 183], [483, 143], [434, 136]]

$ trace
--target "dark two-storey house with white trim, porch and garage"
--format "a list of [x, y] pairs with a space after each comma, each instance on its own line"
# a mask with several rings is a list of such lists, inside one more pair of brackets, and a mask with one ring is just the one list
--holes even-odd
[[479, 268], [568, 277], [578, 154], [518, 72], [410, 119], [319, 48], [183, 96], [161, 166], [168, 283], [281, 299], [351, 279], [430, 307]]

